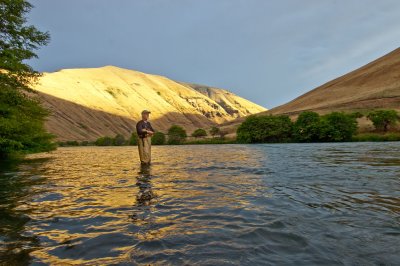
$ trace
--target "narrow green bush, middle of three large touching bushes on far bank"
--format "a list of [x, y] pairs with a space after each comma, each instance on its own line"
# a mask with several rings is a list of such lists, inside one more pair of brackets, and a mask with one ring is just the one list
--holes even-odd
[[320, 133], [320, 117], [315, 112], [302, 112], [293, 126], [293, 138], [299, 142], [317, 142]]

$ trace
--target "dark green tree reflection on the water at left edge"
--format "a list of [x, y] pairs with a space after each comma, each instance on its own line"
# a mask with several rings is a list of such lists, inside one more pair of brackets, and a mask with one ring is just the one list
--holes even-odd
[[[31, 164], [43, 164], [47, 159], [34, 159]], [[29, 253], [39, 246], [39, 239], [25, 229], [30, 219], [30, 208], [25, 202], [36, 194], [45, 178], [41, 171], [32, 175], [30, 167], [0, 162], [0, 265], [27, 264]]]

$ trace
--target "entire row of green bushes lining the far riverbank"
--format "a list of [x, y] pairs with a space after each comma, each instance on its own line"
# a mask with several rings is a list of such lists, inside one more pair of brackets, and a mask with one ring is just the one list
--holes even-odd
[[[357, 133], [357, 119], [367, 117], [374, 125], [374, 132]], [[319, 115], [316, 112], [300, 113], [295, 121], [287, 115], [252, 115], [237, 129], [237, 138], [226, 139], [226, 132], [212, 127], [208, 132], [196, 129], [190, 136], [179, 125], [172, 125], [167, 133], [156, 132], [153, 145], [195, 145], [234, 143], [315, 143], [344, 141], [400, 141], [400, 132], [391, 131], [400, 116], [394, 110], [360, 112], [332, 112]], [[138, 136], [133, 132], [129, 139], [121, 134], [104, 136], [94, 142], [66, 141], [59, 146], [128, 146], [137, 145]]]

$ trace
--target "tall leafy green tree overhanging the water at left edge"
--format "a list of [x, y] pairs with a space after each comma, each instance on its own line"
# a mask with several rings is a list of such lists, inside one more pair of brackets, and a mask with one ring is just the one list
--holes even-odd
[[25, 63], [37, 58], [34, 51], [50, 39], [47, 32], [26, 25], [31, 9], [25, 0], [0, 1], [0, 157], [57, 147], [56, 136], [44, 127], [50, 111], [30, 88], [40, 74]]

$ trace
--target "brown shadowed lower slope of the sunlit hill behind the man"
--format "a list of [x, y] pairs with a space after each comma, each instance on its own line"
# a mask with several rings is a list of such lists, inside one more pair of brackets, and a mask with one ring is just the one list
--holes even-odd
[[[99, 137], [114, 137], [116, 134], [122, 134], [125, 138], [128, 138], [135, 131], [135, 125], [138, 121], [137, 119], [91, 109], [42, 92], [37, 92], [35, 97], [38, 97], [42, 104], [52, 112], [45, 126], [49, 132], [57, 135], [58, 141], [94, 141]], [[164, 133], [172, 124], [178, 124], [189, 132], [199, 127], [209, 128], [216, 125], [199, 114], [171, 112], [165, 113], [159, 118], [151, 119], [151, 123], [157, 131]]]

